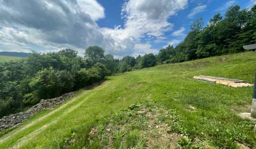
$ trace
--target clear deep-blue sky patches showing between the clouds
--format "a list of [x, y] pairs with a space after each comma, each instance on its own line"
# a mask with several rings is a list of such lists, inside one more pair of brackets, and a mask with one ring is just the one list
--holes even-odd
[[[121, 26], [124, 28], [124, 20], [121, 18], [121, 10], [124, 4], [122, 0], [99, 0], [98, 1], [103, 7], [105, 7], [106, 18], [100, 19], [97, 21], [100, 27], [114, 28], [115, 26]], [[241, 9], [250, 7], [253, 1], [245, 0], [234, 0], [234, 1], [218, 1], [218, 0], [194, 0], [188, 1], [188, 5], [185, 9], [180, 10], [174, 16], [170, 16], [168, 19], [169, 22], [173, 23], [174, 26], [170, 31], [166, 31], [164, 36], [166, 39], [161, 43], [154, 43], [152, 40], [148, 40], [147, 37], [141, 38], [141, 43], [153, 43], [152, 47], [161, 49], [166, 46], [166, 43], [170, 42], [171, 44], [178, 45], [189, 32], [190, 24], [196, 18], [202, 17], [205, 23], [205, 26], [216, 13], [221, 13], [223, 16], [227, 9], [232, 5], [239, 5]], [[255, 3], [255, 2], [254, 2]], [[190, 15], [196, 7], [201, 8], [198, 11]], [[174, 31], [177, 31], [177, 34], [173, 34]]]

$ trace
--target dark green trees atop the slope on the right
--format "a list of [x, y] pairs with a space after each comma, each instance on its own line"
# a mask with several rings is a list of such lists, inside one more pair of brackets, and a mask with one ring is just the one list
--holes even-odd
[[250, 10], [231, 6], [225, 16], [217, 13], [204, 27], [202, 18], [190, 26], [185, 40], [175, 48], [159, 51], [159, 63], [177, 63], [204, 57], [244, 52], [243, 45], [255, 44], [256, 5]]

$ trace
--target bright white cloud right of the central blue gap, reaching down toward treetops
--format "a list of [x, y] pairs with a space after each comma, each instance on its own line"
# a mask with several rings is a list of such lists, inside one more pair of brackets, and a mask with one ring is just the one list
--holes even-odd
[[[123, 5], [122, 16], [124, 28], [102, 29], [103, 35], [113, 37], [111, 43], [122, 54], [140, 53], [137, 44], [144, 36], [155, 37], [156, 41], [164, 39], [164, 33], [170, 31], [173, 24], [167, 19], [177, 11], [185, 9], [187, 0], [130, 0]], [[127, 50], [134, 49], [134, 50]], [[151, 45], [143, 44], [143, 52], [155, 52]]]

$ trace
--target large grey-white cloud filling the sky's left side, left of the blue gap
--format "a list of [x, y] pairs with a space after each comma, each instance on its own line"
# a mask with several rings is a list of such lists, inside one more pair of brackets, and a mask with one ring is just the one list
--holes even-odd
[[102, 46], [103, 35], [94, 20], [104, 17], [104, 9], [93, 1], [0, 0], [1, 46], [12, 51], [27, 51], [31, 46], [78, 50]]

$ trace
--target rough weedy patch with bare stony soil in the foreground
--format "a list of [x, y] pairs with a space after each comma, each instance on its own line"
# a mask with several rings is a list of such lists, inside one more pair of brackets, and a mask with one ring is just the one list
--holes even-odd
[[[183, 134], [173, 133], [179, 116], [156, 105], [131, 105], [93, 127], [85, 148], [174, 148], [182, 146]], [[183, 136], [183, 137], [182, 137]], [[181, 140], [180, 140], [181, 139]], [[189, 139], [191, 143], [191, 139]], [[194, 142], [195, 143], [195, 142]], [[196, 146], [196, 144], [193, 144]]]

